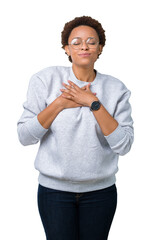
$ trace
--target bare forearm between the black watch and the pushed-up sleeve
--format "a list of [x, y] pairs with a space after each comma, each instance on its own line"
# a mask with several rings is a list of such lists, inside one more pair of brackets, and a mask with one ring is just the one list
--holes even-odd
[[101, 105], [99, 110], [93, 111], [93, 114], [105, 136], [117, 128], [118, 122], [108, 113], [103, 105]]

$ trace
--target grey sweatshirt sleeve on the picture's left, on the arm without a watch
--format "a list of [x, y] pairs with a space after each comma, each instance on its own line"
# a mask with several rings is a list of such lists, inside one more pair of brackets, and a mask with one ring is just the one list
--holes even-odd
[[29, 82], [24, 111], [17, 123], [18, 138], [22, 145], [36, 144], [48, 129], [38, 121], [37, 115], [46, 108], [47, 88], [43, 81], [33, 75]]

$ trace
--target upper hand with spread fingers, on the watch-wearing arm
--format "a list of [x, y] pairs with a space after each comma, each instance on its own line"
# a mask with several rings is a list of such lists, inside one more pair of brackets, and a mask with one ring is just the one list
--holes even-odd
[[63, 86], [66, 89], [60, 89], [63, 92], [62, 97], [70, 99], [80, 105], [90, 107], [93, 101], [98, 101], [98, 98], [95, 96], [95, 93], [92, 93], [90, 90], [90, 85], [79, 88], [75, 83], [69, 81], [69, 85], [63, 83]]

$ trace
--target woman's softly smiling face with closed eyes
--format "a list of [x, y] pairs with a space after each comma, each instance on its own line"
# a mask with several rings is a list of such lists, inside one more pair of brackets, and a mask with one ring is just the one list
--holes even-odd
[[[82, 39], [82, 44], [79, 49], [75, 49], [72, 45], [70, 45], [72, 40], [75, 38]], [[71, 56], [72, 64], [83, 67], [90, 67], [94, 65], [98, 55], [102, 51], [103, 46], [98, 43], [96, 48], [91, 48], [92, 45], [86, 43], [89, 38], [95, 38], [97, 42], [99, 42], [97, 32], [89, 26], [79, 26], [72, 30], [68, 39], [69, 45], [65, 46], [66, 53], [68, 56]]]

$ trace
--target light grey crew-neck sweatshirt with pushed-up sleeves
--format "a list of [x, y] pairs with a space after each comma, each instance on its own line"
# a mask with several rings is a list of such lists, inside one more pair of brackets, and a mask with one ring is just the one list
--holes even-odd
[[62, 94], [67, 80], [79, 87], [88, 84], [76, 78], [72, 67], [48, 67], [31, 77], [17, 124], [19, 140], [23, 145], [40, 141], [35, 168], [42, 186], [69, 192], [109, 187], [116, 182], [119, 155], [128, 153], [133, 143], [130, 91], [120, 80], [99, 72], [91, 82], [91, 91], [119, 124], [108, 136], [89, 107], [64, 109], [45, 129], [37, 115]]

